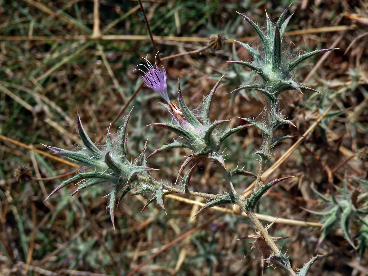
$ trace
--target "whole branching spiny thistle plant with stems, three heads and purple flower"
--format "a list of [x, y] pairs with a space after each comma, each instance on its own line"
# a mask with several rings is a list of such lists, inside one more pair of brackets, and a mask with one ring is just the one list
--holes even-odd
[[[148, 56], [146, 56], [144, 60], [146, 61], [147, 65], [139, 64], [139, 66], [144, 66], [147, 71], [141, 70], [140, 68], [137, 68], [136, 70], [140, 70], [144, 73], [144, 76], [142, 76], [144, 84], [149, 88], [152, 88], [155, 92], [159, 93], [159, 95], [165, 100], [166, 103], [162, 103], [162, 105], [166, 108], [171, 118], [169, 123], [153, 123], [149, 124], [148, 127], [166, 128], [167, 130], [170, 130], [178, 135], [177, 141], [161, 146], [148, 156], [146, 156], [145, 145], [141, 155], [138, 156], [134, 162], [131, 162], [127, 159], [126, 131], [128, 120], [132, 111], [128, 114], [124, 125], [121, 127], [118, 138], [110, 139], [111, 135], [108, 133], [106, 136], [106, 145], [101, 148], [93, 144], [82, 127], [82, 123], [78, 116], [77, 126], [79, 135], [81, 136], [82, 142], [84, 144], [84, 148], [78, 151], [67, 151], [60, 148], [54, 148], [52, 146], [47, 146], [47, 148], [54, 151], [58, 155], [64, 156], [83, 165], [84, 167], [77, 173], [76, 176], [70, 178], [70, 180], [65, 181], [63, 184], [57, 187], [49, 195], [49, 197], [55, 192], [59, 191], [61, 188], [66, 187], [68, 184], [76, 181], [81, 182], [79, 183], [79, 187], [72, 193], [72, 195], [93, 185], [109, 183], [109, 209], [113, 225], [115, 201], [119, 192], [121, 192], [121, 195], [118, 199], [118, 202], [120, 202], [128, 192], [131, 192], [133, 195], [151, 194], [151, 198], [148, 199], [144, 208], [156, 201], [162, 207], [162, 209], [164, 209], [163, 196], [170, 193], [196, 195], [208, 199], [209, 201], [203, 208], [199, 209], [196, 215], [212, 206], [236, 204], [240, 206], [242, 210], [244, 210], [250, 220], [254, 223], [257, 229], [256, 237], [258, 243], [267, 247], [266, 250], [263, 251], [263, 253], [267, 252], [269, 255], [268, 258], [264, 256], [265, 262], [285, 270], [291, 276], [307, 275], [311, 264], [321, 256], [317, 255], [312, 257], [302, 269], [300, 269], [298, 272], [295, 272], [291, 268], [287, 255], [282, 253], [275, 244], [275, 241], [278, 239], [271, 237], [268, 234], [268, 227], [263, 227], [262, 223], [258, 220], [254, 213], [255, 206], [258, 204], [259, 200], [266, 191], [280, 181], [292, 177], [286, 176], [278, 178], [270, 181], [269, 183], [263, 183], [261, 181], [263, 169], [271, 158], [271, 149], [273, 146], [280, 141], [294, 137], [292, 135], [286, 135], [275, 138], [274, 132], [278, 126], [289, 124], [295, 127], [290, 120], [286, 120], [286, 118], [284, 118], [282, 115], [280, 96], [284, 91], [287, 90], [296, 90], [298, 92], [307, 90], [317, 92], [312, 88], [298, 84], [294, 80], [295, 70], [297, 66], [308, 57], [333, 50], [315, 50], [310, 53], [302, 54], [292, 61], [287, 61], [287, 59], [285, 59], [282, 55], [282, 39], [287, 23], [291, 18], [290, 15], [290, 17], [285, 20], [287, 11], [288, 8], [282, 13], [276, 24], [273, 24], [268, 16], [266, 17], [267, 34], [263, 33], [258, 25], [256, 25], [250, 18], [240, 14], [240, 16], [243, 17], [244, 20], [251, 24], [251, 26], [254, 28], [261, 40], [262, 47], [261, 49], [257, 50], [248, 44], [237, 42], [251, 53], [254, 60], [251, 62], [231, 61], [231, 63], [240, 64], [250, 68], [260, 78], [257, 81], [256, 79], [253, 79], [254, 82], [251, 84], [242, 85], [234, 91], [239, 91], [241, 89], [255, 89], [256, 91], [261, 92], [266, 99], [265, 109], [262, 114], [264, 120], [257, 121], [251, 118], [242, 118], [247, 122], [247, 124], [234, 127], [229, 130], [222, 130], [219, 128], [220, 124], [228, 122], [229, 119], [211, 122], [209, 118], [212, 98], [220, 84], [222, 77], [210, 90], [209, 95], [204, 98], [203, 106], [201, 106], [200, 109], [197, 109], [201, 111], [193, 112], [184, 102], [179, 83], [177, 87], [178, 105], [171, 102], [169, 95], [167, 94], [167, 75], [165, 68], [163, 66], [157, 66], [156, 62], [155, 65], [153, 65], [148, 61]], [[239, 168], [228, 171], [225, 166], [225, 160], [221, 149], [223, 141], [231, 135], [236, 134], [236, 132], [251, 126], [258, 128], [263, 135], [262, 146], [255, 152], [255, 154], [259, 156], [258, 173], [253, 174], [249, 171]], [[179, 185], [179, 188], [174, 188], [173, 185], [165, 185], [163, 182], [155, 180], [150, 173], [150, 170], [152, 169], [147, 164], [147, 159], [151, 158], [152, 156], [162, 151], [174, 148], [186, 148], [192, 151], [191, 155], [185, 159], [184, 163], [178, 170], [176, 182], [173, 184]], [[227, 190], [223, 191], [222, 194], [206, 194], [189, 190], [188, 183], [194, 168], [204, 159], [212, 159], [220, 167], [224, 180], [227, 183]], [[190, 168], [185, 172], [184, 176], [181, 177], [181, 173], [188, 165], [190, 165]], [[235, 190], [232, 183], [232, 178], [237, 175], [245, 175], [256, 178], [254, 191], [250, 197], [241, 197], [241, 195], [239, 195]], [[336, 203], [337, 207], [329, 214], [333, 213], [333, 215], [336, 216], [335, 210], [341, 211], [346, 205], [346, 201], [334, 202]], [[351, 207], [350, 210], [351, 212], [348, 213], [346, 210], [343, 211], [343, 213], [346, 213], [346, 217], [348, 217], [350, 214], [356, 213], [353, 207]], [[333, 222], [331, 222], [328, 226], [332, 225], [332, 223]], [[346, 223], [346, 221], [344, 221], [344, 223]], [[328, 226], [326, 226], [326, 228]], [[363, 236], [366, 237], [366, 233], [363, 234]], [[350, 238], [348, 235], [347, 237]]]

